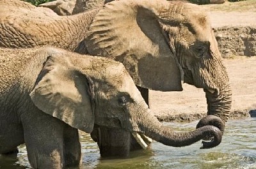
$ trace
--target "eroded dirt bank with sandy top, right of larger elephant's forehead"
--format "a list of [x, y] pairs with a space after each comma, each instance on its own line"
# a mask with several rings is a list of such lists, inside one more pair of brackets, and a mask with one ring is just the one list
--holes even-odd
[[209, 16], [224, 58], [256, 55], [256, 12], [210, 11]]

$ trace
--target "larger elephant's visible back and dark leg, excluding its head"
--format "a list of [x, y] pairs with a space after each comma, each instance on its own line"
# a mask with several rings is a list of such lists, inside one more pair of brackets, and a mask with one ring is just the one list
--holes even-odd
[[[82, 40], [86, 38], [88, 28], [99, 11], [61, 17], [49, 8], [36, 8], [19, 0], [0, 1], [0, 8], [0, 47], [33, 48], [51, 45], [81, 54], [88, 53]], [[98, 127], [93, 133], [98, 134]], [[97, 140], [102, 156], [128, 156], [130, 149], [141, 149], [130, 132], [115, 129], [111, 133], [111, 129], [102, 126], [101, 129], [101, 139], [95, 138], [97, 135], [92, 137]]]

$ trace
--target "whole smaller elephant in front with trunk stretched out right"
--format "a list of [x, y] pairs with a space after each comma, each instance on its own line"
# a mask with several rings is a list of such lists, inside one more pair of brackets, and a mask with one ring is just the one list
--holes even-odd
[[146, 135], [182, 147], [205, 136], [221, 142], [221, 131], [202, 126], [175, 133], [152, 115], [122, 63], [66, 50], [0, 48], [0, 154], [26, 143], [33, 168], [81, 164], [77, 129], [95, 124]]

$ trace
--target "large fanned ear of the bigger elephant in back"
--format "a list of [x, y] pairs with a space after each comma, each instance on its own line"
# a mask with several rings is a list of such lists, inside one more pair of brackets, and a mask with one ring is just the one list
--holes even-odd
[[124, 64], [136, 85], [157, 91], [182, 91], [183, 74], [158, 22], [168, 1], [120, 0], [104, 6], [86, 38], [92, 55]]

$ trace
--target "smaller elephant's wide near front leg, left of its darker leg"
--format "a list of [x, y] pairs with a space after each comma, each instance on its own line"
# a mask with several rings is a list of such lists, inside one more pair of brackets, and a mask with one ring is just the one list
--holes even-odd
[[65, 123], [41, 111], [20, 117], [30, 165], [33, 168], [63, 168]]

